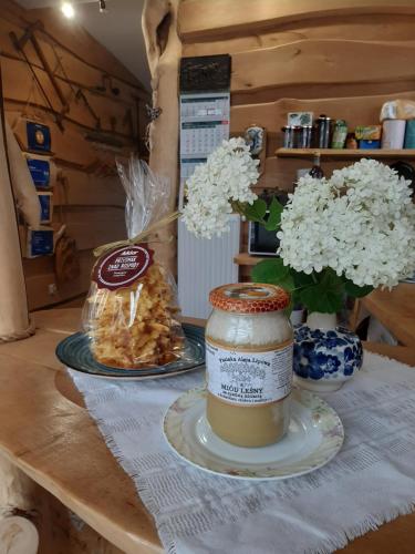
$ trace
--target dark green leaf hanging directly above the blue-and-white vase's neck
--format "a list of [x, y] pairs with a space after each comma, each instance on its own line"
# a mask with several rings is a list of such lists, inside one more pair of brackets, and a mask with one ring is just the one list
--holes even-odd
[[317, 281], [299, 291], [300, 301], [309, 311], [335, 314], [343, 307], [344, 283], [332, 269], [314, 274]]

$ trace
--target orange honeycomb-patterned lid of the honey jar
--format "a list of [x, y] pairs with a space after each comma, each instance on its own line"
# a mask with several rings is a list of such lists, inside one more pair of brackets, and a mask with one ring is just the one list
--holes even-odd
[[214, 288], [209, 295], [214, 308], [239, 314], [261, 314], [287, 308], [290, 295], [276, 285], [237, 283]]

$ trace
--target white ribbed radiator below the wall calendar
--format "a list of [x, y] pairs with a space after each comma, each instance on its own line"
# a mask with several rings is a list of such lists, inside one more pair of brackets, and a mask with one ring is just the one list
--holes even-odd
[[220, 237], [196, 238], [178, 220], [178, 300], [181, 314], [207, 318], [211, 311], [209, 291], [219, 285], [238, 281], [240, 217], [230, 216], [230, 232]]

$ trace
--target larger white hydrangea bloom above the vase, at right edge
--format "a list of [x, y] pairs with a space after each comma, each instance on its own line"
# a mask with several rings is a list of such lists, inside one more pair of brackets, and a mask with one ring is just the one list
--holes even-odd
[[361, 160], [331, 178], [300, 178], [281, 216], [284, 265], [331, 267], [355, 285], [393, 287], [415, 271], [415, 206], [408, 182]]

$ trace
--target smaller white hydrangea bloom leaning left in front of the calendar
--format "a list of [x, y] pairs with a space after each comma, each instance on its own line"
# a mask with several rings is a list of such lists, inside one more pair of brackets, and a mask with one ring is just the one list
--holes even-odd
[[187, 228], [204, 238], [229, 230], [231, 202], [252, 204], [257, 198], [250, 186], [258, 181], [258, 164], [242, 137], [224, 141], [186, 183], [181, 215]]

